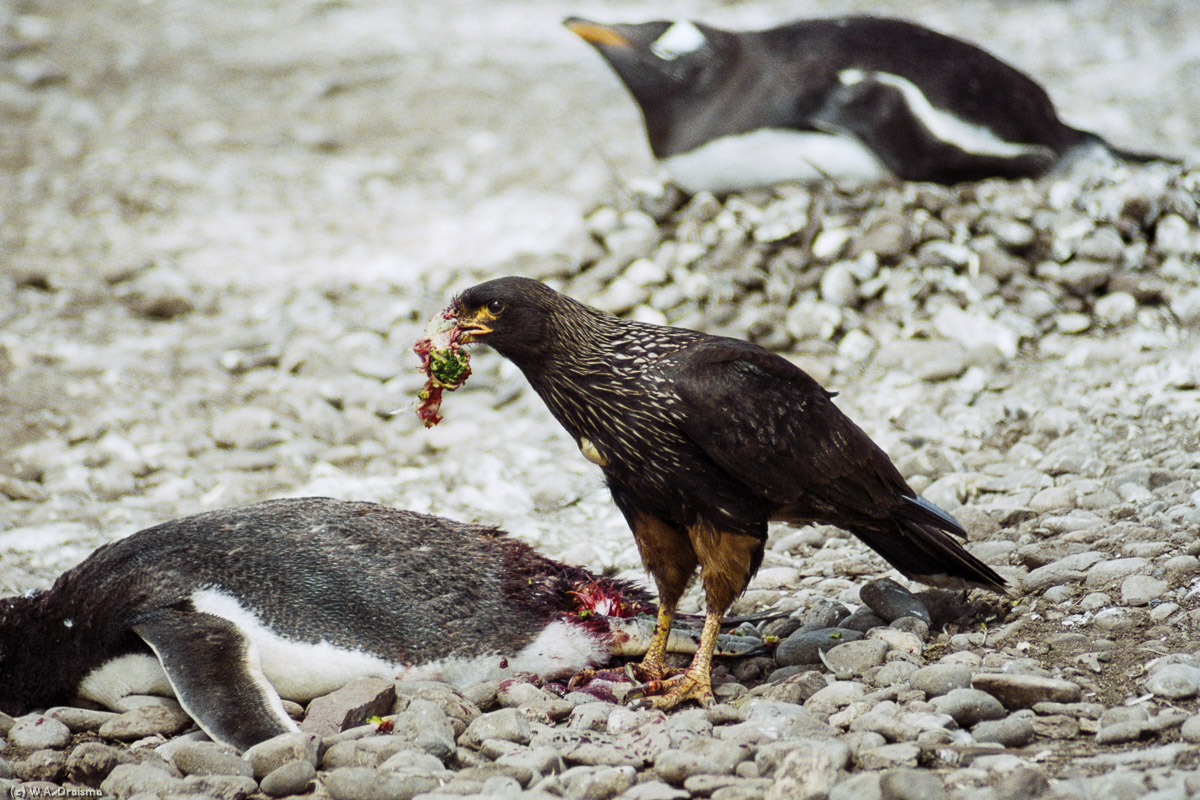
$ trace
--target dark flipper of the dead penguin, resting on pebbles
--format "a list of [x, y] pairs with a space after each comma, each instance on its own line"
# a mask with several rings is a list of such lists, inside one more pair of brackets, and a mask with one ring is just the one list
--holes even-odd
[[179, 704], [215, 741], [244, 751], [298, 729], [258, 668], [253, 644], [229, 620], [162, 610], [132, 627], [158, 657]]

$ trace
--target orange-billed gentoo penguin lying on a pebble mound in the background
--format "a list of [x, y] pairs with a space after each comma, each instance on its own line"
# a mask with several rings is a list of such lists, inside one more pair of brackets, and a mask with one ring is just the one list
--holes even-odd
[[732, 32], [570, 18], [625, 83], [654, 156], [689, 192], [826, 176], [954, 184], [1045, 173], [1091, 149], [1031, 78], [900, 19], [840, 17]]

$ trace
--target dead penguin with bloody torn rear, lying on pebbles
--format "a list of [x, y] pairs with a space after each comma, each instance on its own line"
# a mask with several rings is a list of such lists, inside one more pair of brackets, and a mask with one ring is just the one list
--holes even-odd
[[[306, 702], [364, 675], [464, 686], [638, 655], [653, 627], [638, 612], [653, 613], [643, 591], [494, 528], [269, 500], [148, 528], [48, 590], [0, 600], [0, 710], [174, 693], [212, 739], [244, 750], [296, 729], [280, 697]], [[672, 644], [694, 651], [696, 638]]]

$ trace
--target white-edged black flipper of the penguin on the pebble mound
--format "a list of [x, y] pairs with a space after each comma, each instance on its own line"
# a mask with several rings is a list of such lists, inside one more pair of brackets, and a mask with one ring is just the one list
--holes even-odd
[[935, 108], [904, 78], [850, 72], [853, 76], [842, 78], [811, 122], [857, 137], [904, 180], [955, 184], [1037, 176], [1057, 160], [1049, 146], [1006, 142]]

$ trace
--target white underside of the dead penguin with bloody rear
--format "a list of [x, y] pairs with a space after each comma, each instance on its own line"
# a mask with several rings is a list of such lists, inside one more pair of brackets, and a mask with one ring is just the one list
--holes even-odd
[[[238, 599], [220, 589], [200, 589], [193, 593], [192, 602], [198, 612], [233, 622], [250, 640], [252, 646], [246, 670], [254, 682], [265, 681], [272, 687], [268, 692], [274, 700], [271, 710], [289, 727], [294, 723], [283, 712], [278, 697], [307, 703], [356, 678], [442, 680], [462, 688], [521, 673], [565, 676], [602, 663], [612, 655], [612, 649], [600, 637], [580, 625], [559, 620], [547, 625], [533, 642], [508, 658], [484, 654], [472, 658], [401, 664], [329, 642], [288, 639], [265, 626]], [[151, 649], [158, 651], [154, 644]], [[204, 710], [188, 708], [181, 697], [184, 692], [176, 691], [160, 660], [150, 655], [125, 655], [103, 663], [83, 679], [78, 693], [113, 709], [121, 708], [121, 699], [130, 694], [174, 694], [200, 727], [205, 727]]]

